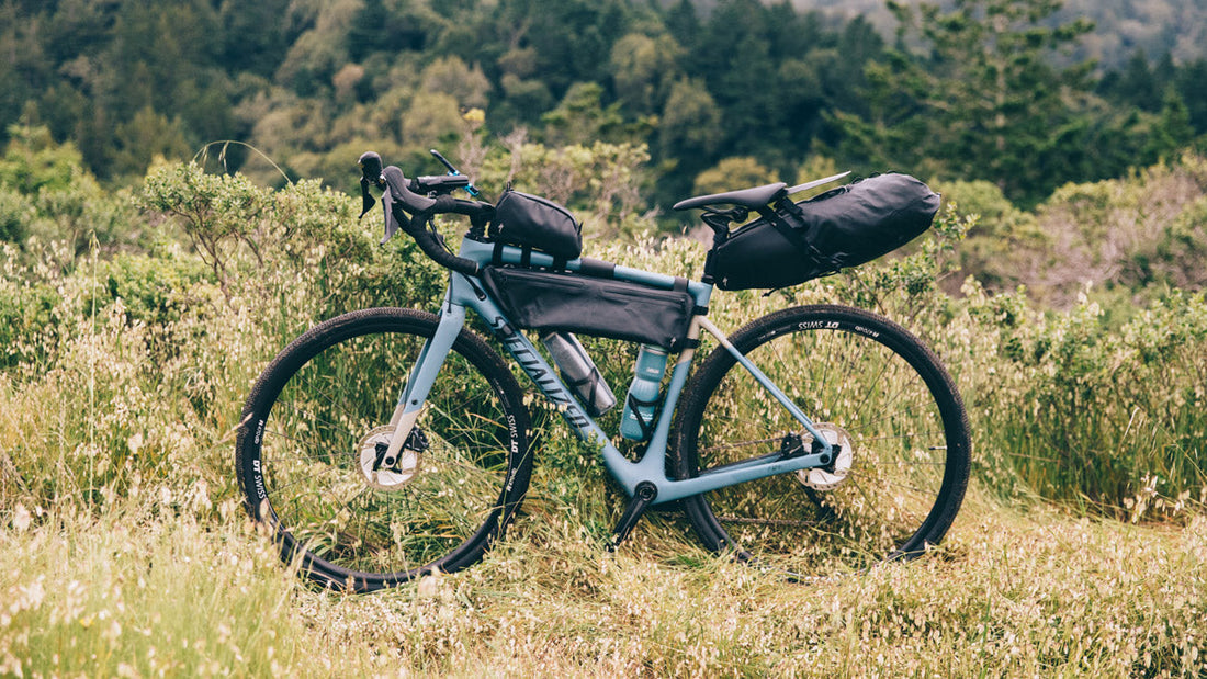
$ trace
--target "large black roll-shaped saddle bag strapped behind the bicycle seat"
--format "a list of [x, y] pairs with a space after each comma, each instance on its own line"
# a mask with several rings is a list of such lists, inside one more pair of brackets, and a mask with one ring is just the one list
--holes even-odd
[[781, 288], [857, 267], [931, 228], [939, 195], [921, 181], [876, 175], [736, 229], [709, 257], [721, 289]]

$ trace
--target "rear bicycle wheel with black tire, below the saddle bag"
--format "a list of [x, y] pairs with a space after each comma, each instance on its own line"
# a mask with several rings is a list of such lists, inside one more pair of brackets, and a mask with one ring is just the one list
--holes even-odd
[[[970, 443], [960, 394], [928, 349], [880, 316], [829, 305], [765, 316], [729, 339], [839, 455], [828, 469], [684, 499], [706, 546], [810, 576], [909, 558], [943, 539]], [[724, 347], [688, 385], [676, 432], [680, 478], [812, 443]]]

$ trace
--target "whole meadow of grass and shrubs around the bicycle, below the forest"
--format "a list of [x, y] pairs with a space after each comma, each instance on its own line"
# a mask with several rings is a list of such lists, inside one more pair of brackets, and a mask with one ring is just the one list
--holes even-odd
[[[1207, 300], [1177, 277], [1202, 262], [1200, 158], [1022, 216], [952, 186], [903, 257], [713, 298], [727, 329], [841, 302], [935, 349], [974, 467], [931, 554], [792, 584], [709, 554], [670, 511], [610, 555], [622, 493], [541, 417], [524, 511], [485, 561], [352, 597], [307, 585], [247, 520], [234, 428], [291, 338], [362, 306], [431, 309], [442, 273], [404, 239], [377, 246], [358, 201], [317, 182], [161, 163], [112, 193], [70, 148], [19, 151], [0, 165], [2, 675], [1207, 673]], [[1135, 194], [1161, 187], [1164, 230], [1124, 238], [1150, 212]], [[1126, 288], [1010, 264], [1107, 240], [1136, 267], [1164, 254]], [[587, 252], [699, 276], [705, 247], [639, 235]], [[631, 364], [601, 363], [624, 384]]]

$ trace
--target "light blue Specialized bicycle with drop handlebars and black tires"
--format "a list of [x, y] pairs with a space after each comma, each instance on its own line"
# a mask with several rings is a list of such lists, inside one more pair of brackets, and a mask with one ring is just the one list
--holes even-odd
[[[707, 318], [715, 283], [777, 287], [717, 276], [722, 251], [733, 258], [731, 244], [754, 233], [730, 233], [733, 223], [754, 211], [782, 232], [801, 207], [826, 203], [793, 204], [801, 187], [783, 183], [681, 201], [676, 209], [702, 209], [716, 234], [705, 275], [688, 281], [581, 257], [560, 206], [533, 197], [523, 207], [546, 226], [525, 228], [542, 233], [501, 236], [503, 199], [451, 198], [477, 192], [432, 153], [449, 174], [408, 180], [372, 152], [361, 169], [365, 212], [369, 186], [383, 189], [386, 239], [401, 228], [449, 270], [439, 312], [365, 309], [322, 322], [272, 361], [247, 398], [239, 482], [286, 562], [299, 560], [325, 586], [367, 592], [466, 568], [513, 522], [532, 474], [531, 418], [508, 363], [466, 326], [467, 310], [628, 493], [608, 549], [667, 503], [709, 549], [792, 578], [912, 558], [943, 539], [968, 482], [970, 443], [960, 394], [929, 349], [887, 318], [836, 305], [777, 311], [728, 336]], [[456, 254], [428, 228], [442, 213], [470, 217]], [[760, 238], [747, 246], [759, 250]], [[543, 311], [524, 306], [531, 295]], [[625, 324], [632, 309], [646, 317], [604, 327]], [[560, 365], [559, 375], [521, 328], [641, 345], [622, 417], [622, 434], [643, 441], [635, 461], [596, 421], [607, 405], [597, 373], [573, 381]], [[693, 369], [701, 333], [717, 346]]]

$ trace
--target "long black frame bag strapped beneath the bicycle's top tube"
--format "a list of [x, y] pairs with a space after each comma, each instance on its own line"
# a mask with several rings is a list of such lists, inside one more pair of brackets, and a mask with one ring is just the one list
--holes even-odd
[[485, 267], [482, 281], [508, 320], [521, 329], [683, 349], [695, 299], [687, 280], [676, 289], [568, 273]]

